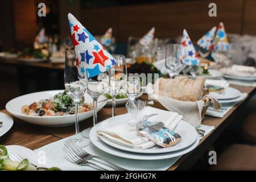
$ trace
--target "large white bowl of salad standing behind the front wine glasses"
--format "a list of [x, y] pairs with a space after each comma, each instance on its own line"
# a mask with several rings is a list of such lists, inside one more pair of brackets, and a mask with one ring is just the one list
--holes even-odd
[[[106, 105], [98, 98], [97, 111]], [[102, 101], [102, 102], [101, 102]], [[80, 121], [93, 115], [93, 100], [85, 93], [79, 106]], [[65, 90], [49, 90], [16, 97], [6, 104], [6, 110], [23, 121], [43, 126], [65, 126], [75, 123], [75, 104]]]

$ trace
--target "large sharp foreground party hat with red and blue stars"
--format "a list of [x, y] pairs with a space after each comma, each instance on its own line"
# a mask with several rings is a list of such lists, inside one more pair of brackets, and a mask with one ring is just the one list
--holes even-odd
[[68, 20], [79, 74], [84, 76], [86, 72], [90, 78], [112, 68], [116, 63], [113, 56], [71, 13], [68, 14]]

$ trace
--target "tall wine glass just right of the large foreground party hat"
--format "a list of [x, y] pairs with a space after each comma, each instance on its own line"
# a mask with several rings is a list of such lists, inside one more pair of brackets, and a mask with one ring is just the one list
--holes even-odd
[[127, 79], [127, 68], [125, 56], [112, 55], [117, 61], [115, 65], [109, 69], [110, 77], [110, 95], [112, 96], [112, 117], [115, 115], [115, 97], [119, 93], [119, 90], [125, 88]]

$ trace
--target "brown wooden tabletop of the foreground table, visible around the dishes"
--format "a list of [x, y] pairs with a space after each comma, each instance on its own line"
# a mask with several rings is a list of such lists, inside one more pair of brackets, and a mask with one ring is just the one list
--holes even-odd
[[[216, 129], [213, 130], [210, 134], [200, 140], [199, 145], [195, 150], [181, 156], [177, 162], [171, 166], [168, 170], [184, 170], [189, 169], [196, 163], [201, 155], [213, 144], [221, 133], [229, 126], [229, 124], [234, 121], [238, 115], [240, 115], [245, 108], [247, 101], [255, 94], [256, 89], [253, 87], [244, 87], [244, 86], [234, 86], [241, 92], [247, 92], [248, 96], [240, 104], [235, 106], [230, 110], [224, 118], [214, 118], [206, 116], [203, 120], [204, 125], [215, 126]], [[2, 110], [3, 113], [8, 113], [6, 110]], [[126, 113], [125, 107], [117, 107], [117, 115]], [[112, 109], [110, 107], [104, 107], [101, 111], [98, 112], [98, 121], [102, 121], [106, 118], [111, 117]], [[13, 117], [13, 116], [12, 116]], [[29, 123], [20, 121], [19, 119], [14, 118], [13, 128], [5, 135], [0, 138], [0, 144], [3, 145], [21, 145], [24, 147], [31, 148], [35, 150], [36, 148], [42, 147], [46, 144], [55, 142], [65, 137], [69, 137], [75, 134], [75, 126], [65, 126], [65, 127], [42, 127], [35, 126]], [[85, 121], [80, 122], [80, 128], [86, 129], [87, 127], [92, 126], [92, 118], [86, 119]]]

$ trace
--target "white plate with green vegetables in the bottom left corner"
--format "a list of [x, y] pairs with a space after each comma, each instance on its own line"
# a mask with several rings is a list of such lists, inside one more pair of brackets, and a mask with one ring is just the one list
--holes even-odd
[[35, 164], [36, 166], [40, 167], [46, 167], [46, 168], [51, 168], [51, 167], [58, 167], [56, 163], [52, 162], [50, 159], [45, 160], [45, 164], [39, 163], [39, 158], [42, 158], [42, 154], [39, 152], [36, 153], [35, 151], [30, 150], [29, 148], [23, 147], [23, 146], [5, 146], [7, 148], [8, 155], [12, 155], [14, 153], [18, 154], [24, 159], [28, 159], [28, 161], [32, 164]]

